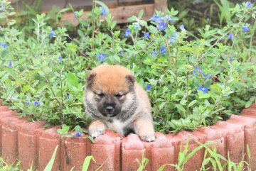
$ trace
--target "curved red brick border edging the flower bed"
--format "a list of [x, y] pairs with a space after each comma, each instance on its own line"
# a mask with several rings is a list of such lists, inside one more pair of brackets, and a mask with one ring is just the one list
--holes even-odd
[[[43, 128], [44, 121], [28, 122], [26, 118], [18, 118], [16, 111], [8, 106], [1, 106], [0, 99], [0, 155], [9, 162], [21, 161], [24, 170], [33, 168], [43, 170], [49, 162], [56, 145], [59, 145], [55, 156], [53, 170], [82, 170], [82, 163], [87, 155], [93, 155], [96, 162], [91, 162], [90, 170], [137, 170], [137, 160], [142, 154], [149, 159], [146, 170], [157, 170], [164, 164], [178, 162], [178, 152], [189, 138], [188, 149], [193, 150], [200, 143], [209, 141], [221, 155], [234, 162], [242, 160], [247, 153], [248, 145], [251, 153], [251, 168], [256, 170], [256, 104], [244, 109], [241, 116], [232, 115], [228, 121], [218, 121], [213, 126], [202, 127], [195, 131], [180, 131], [164, 135], [156, 133], [156, 141], [143, 142], [135, 134], [122, 138], [117, 133], [107, 131], [105, 135], [91, 143], [87, 136], [80, 138], [63, 138], [57, 133], [60, 126]], [[204, 150], [198, 151], [188, 160], [185, 170], [199, 170], [203, 161]], [[245, 160], [248, 161], [247, 156]], [[104, 164], [103, 164], [104, 163]], [[103, 164], [103, 165], [102, 165]], [[165, 170], [174, 170], [166, 167]]]

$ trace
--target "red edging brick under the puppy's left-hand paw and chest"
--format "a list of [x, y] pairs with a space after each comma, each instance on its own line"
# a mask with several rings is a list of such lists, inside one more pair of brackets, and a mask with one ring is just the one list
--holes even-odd
[[[105, 135], [95, 139], [91, 145], [91, 155], [96, 163], [92, 162], [90, 170], [121, 170], [121, 138], [119, 134], [107, 131]], [[103, 164], [104, 163], [104, 164]]]

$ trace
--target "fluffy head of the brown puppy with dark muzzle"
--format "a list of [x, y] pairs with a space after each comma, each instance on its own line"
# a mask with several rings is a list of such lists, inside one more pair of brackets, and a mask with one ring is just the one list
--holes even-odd
[[100, 65], [88, 75], [85, 90], [85, 106], [114, 117], [134, 102], [134, 75], [119, 65]]

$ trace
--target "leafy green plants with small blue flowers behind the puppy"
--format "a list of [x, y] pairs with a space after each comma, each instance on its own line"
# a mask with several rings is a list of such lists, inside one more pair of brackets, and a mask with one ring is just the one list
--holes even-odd
[[237, 4], [226, 26], [193, 35], [177, 26], [174, 9], [149, 21], [141, 11], [121, 33], [107, 6], [94, 3], [87, 20], [73, 11], [80, 26], [71, 38], [66, 28], [48, 26], [44, 13], [33, 18], [32, 34], [19, 31], [9, 1], [2, 2], [0, 96], [21, 116], [87, 126], [85, 77], [102, 63], [134, 72], [150, 96], [156, 131], [164, 133], [211, 125], [255, 101], [255, 6]]

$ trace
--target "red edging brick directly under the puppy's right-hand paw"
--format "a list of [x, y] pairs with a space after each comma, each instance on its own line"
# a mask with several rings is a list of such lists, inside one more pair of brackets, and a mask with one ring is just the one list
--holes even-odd
[[142, 161], [144, 143], [136, 134], [130, 134], [122, 140], [122, 171], [133, 171], [139, 168]]

